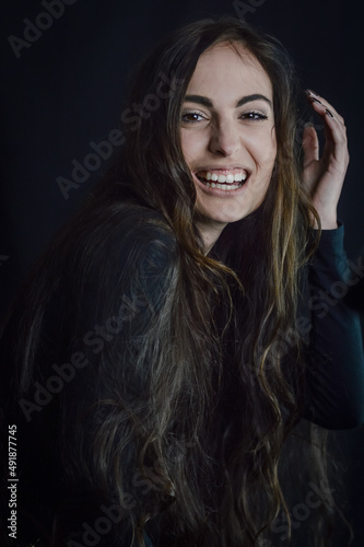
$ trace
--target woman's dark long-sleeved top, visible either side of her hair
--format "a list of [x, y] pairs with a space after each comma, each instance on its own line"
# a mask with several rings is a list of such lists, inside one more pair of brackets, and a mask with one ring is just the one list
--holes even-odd
[[[87, 253], [87, 241], [81, 249], [75, 243], [71, 261], [59, 257], [59, 277], [46, 306], [42, 345], [36, 356], [37, 384], [31, 394], [15, 401], [19, 414], [13, 415], [19, 427], [19, 472], [24, 477], [21, 499], [26, 512], [34, 513], [27, 515], [30, 523], [35, 521], [30, 524], [30, 528], [34, 525], [36, 529], [32, 537], [49, 528], [47, 521], [57, 513], [60, 529], [63, 522], [71, 529], [72, 521], [78, 529], [74, 536], [63, 536], [61, 543], [73, 547], [93, 545], [92, 542], [108, 547], [126, 547], [131, 543], [127, 528], [122, 538], [119, 531], [115, 536], [110, 532], [120, 514], [111, 500], [101, 503], [97, 492], [91, 491], [92, 477], [86, 470], [82, 478], [75, 477], [75, 490], [64, 480], [61, 444], [74, 442], [73, 419], [82, 409], [86, 414], [85, 409], [95, 403], [113, 398], [110, 377], [115, 380], [115, 391], [119, 388], [128, 397], [138, 397], [142, 392], [142, 382], [133, 385], [132, 393], [126, 389], [128, 370], [120, 371], [117, 365], [126, 360], [127, 352], [132, 362], [130, 340], [145, 335], [150, 317], [158, 312], [178, 267], [177, 244], [173, 234], [161, 228], [158, 214], [145, 210], [122, 214], [122, 231], [106, 225], [99, 233], [91, 234], [104, 252], [103, 258], [98, 254], [98, 263], [90, 260], [87, 271], [78, 269], [79, 253]], [[347, 277], [342, 241], [343, 226], [322, 233], [314, 260], [305, 267], [305, 296], [295, 326], [300, 336], [309, 338], [303, 418], [327, 429], [353, 428], [364, 422], [361, 327], [343, 298], [352, 277]], [[136, 254], [137, 247], [140, 253]], [[106, 271], [107, 277], [102, 277], [101, 272]], [[110, 291], [115, 295], [113, 310], [104, 305]], [[285, 344], [290, 344], [289, 335]], [[9, 348], [3, 353], [10, 368], [12, 353]], [[59, 409], [64, 405], [67, 411], [60, 418]], [[106, 415], [97, 409], [95, 415], [83, 419], [84, 444], [92, 446], [87, 420], [103, 422]], [[68, 476], [77, 473], [77, 452], [74, 458], [74, 469], [68, 469]], [[84, 543], [85, 538], [91, 543]]]

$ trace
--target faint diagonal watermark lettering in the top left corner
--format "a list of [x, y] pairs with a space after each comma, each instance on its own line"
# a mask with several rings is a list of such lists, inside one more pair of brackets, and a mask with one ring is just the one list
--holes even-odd
[[66, 7], [73, 5], [78, 0], [43, 0], [40, 4], [46, 11], [40, 11], [34, 21], [31, 21], [28, 18], [23, 19], [25, 25], [23, 37], [21, 38], [14, 34], [8, 36], [8, 42], [16, 59], [20, 59], [24, 48], [28, 49], [33, 44], [38, 42], [43, 33], [48, 31], [54, 25], [54, 22], [63, 15]]

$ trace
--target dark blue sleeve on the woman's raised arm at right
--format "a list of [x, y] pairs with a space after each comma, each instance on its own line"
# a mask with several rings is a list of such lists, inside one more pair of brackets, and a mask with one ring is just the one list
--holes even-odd
[[326, 429], [349, 429], [364, 421], [364, 358], [357, 314], [347, 305], [351, 271], [343, 251], [344, 229], [322, 231], [308, 267], [310, 345], [306, 418]]

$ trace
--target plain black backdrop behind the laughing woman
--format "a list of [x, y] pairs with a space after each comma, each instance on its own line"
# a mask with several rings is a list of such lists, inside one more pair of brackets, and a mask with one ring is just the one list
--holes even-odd
[[[349, 257], [357, 261], [364, 246], [361, 2], [2, 0], [1, 12], [2, 310], [52, 234], [107, 171], [111, 158], [97, 165], [87, 154], [94, 153], [92, 143], [120, 127], [127, 77], [137, 60], [171, 28], [223, 13], [244, 15], [278, 36], [295, 60], [303, 88], [316, 90], [344, 116], [351, 164], [339, 214]], [[85, 162], [89, 168], [81, 173]], [[72, 181], [75, 165], [84, 181], [62, 193], [59, 177], [62, 185]], [[355, 291], [354, 304], [361, 298], [363, 306], [363, 289]], [[336, 433], [334, 444], [348, 467], [354, 546], [363, 547], [363, 429]]]

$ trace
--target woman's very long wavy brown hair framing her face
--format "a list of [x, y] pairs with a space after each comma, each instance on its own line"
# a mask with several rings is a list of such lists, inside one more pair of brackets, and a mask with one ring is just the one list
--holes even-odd
[[[218, 43], [243, 45], [268, 73], [278, 153], [262, 205], [227, 225], [206, 256], [181, 152], [180, 109], [199, 57]], [[145, 529], [171, 546], [267, 547], [277, 545], [278, 519], [287, 529], [279, 545], [289, 544], [289, 462], [300, 435], [301, 457], [310, 457], [304, 480], [326, 480], [321, 432], [307, 426], [307, 434], [297, 433], [304, 341], [291, 336], [286, 342], [295, 328], [300, 275], [313, 251], [312, 218], [317, 219], [301, 185], [296, 92], [284, 48], [244, 21], [198, 21], [164, 38], [133, 79], [116, 171], [54, 244], [26, 290], [16, 334], [21, 364], [14, 382], [21, 394], [40, 374], [45, 310], [61, 265], [74, 283], [61, 307], [62, 336], [68, 333], [77, 348], [74, 300], [81, 300], [93, 268], [104, 268], [107, 277], [113, 267], [104, 259], [107, 237], [124, 226], [133, 242], [127, 268], [137, 272], [133, 278], [154, 249], [152, 266], [164, 281], [148, 329], [130, 335], [128, 352], [117, 339], [101, 352], [94, 377], [103, 379], [102, 399], [86, 408], [77, 399], [70, 410], [60, 397], [59, 405], [63, 468], [124, 508], [126, 493], [132, 493], [136, 503], [127, 513], [139, 547]], [[149, 236], [134, 224], [140, 206], [157, 213], [146, 216]], [[156, 260], [167, 253], [161, 234], [173, 249], [165, 271]], [[106, 291], [105, 314], [127, 281], [124, 276]], [[332, 503], [329, 497], [328, 511]], [[325, 545], [322, 526], [317, 519], [309, 545]]]

